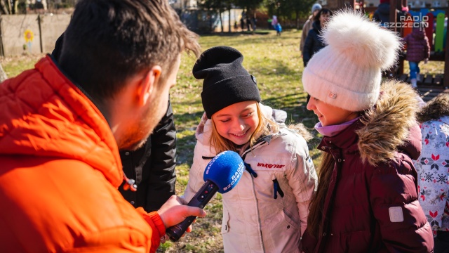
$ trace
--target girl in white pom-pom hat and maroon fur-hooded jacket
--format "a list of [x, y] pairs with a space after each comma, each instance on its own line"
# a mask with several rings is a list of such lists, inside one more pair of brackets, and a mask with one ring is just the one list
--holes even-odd
[[417, 93], [381, 84], [400, 48], [393, 32], [361, 13], [333, 15], [326, 46], [304, 69], [307, 104], [323, 135], [319, 186], [311, 200], [304, 252], [432, 252], [417, 199], [421, 134]]

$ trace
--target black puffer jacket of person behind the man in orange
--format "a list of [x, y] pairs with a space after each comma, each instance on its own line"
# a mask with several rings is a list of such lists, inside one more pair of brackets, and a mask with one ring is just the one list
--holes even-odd
[[173, 109], [168, 109], [159, 124], [138, 150], [120, 150], [123, 171], [129, 179], [135, 179], [137, 191], [119, 191], [134, 207], [156, 211], [168, 198], [175, 195], [176, 186], [176, 128]]

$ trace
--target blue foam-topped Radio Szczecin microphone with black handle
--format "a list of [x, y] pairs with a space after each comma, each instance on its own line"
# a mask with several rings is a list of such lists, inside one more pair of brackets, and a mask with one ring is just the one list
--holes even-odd
[[[234, 151], [228, 150], [216, 155], [204, 170], [205, 183], [187, 205], [203, 209], [217, 191], [223, 194], [232, 190], [239, 183], [244, 170], [243, 160]], [[196, 216], [189, 216], [181, 223], [167, 228], [166, 233], [170, 240], [172, 242], [180, 240], [195, 219]]]

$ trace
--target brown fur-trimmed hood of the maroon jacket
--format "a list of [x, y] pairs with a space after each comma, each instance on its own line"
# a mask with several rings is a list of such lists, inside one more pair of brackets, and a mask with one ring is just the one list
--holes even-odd
[[408, 84], [393, 80], [382, 84], [377, 103], [364, 113], [363, 126], [356, 131], [363, 161], [375, 165], [395, 160], [397, 150], [417, 159], [421, 152], [418, 97]]

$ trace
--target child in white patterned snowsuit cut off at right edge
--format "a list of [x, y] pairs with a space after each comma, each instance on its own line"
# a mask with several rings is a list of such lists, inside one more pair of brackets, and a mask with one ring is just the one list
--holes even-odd
[[420, 203], [434, 232], [435, 253], [449, 252], [449, 93], [432, 98], [418, 114], [422, 150], [415, 161]]

